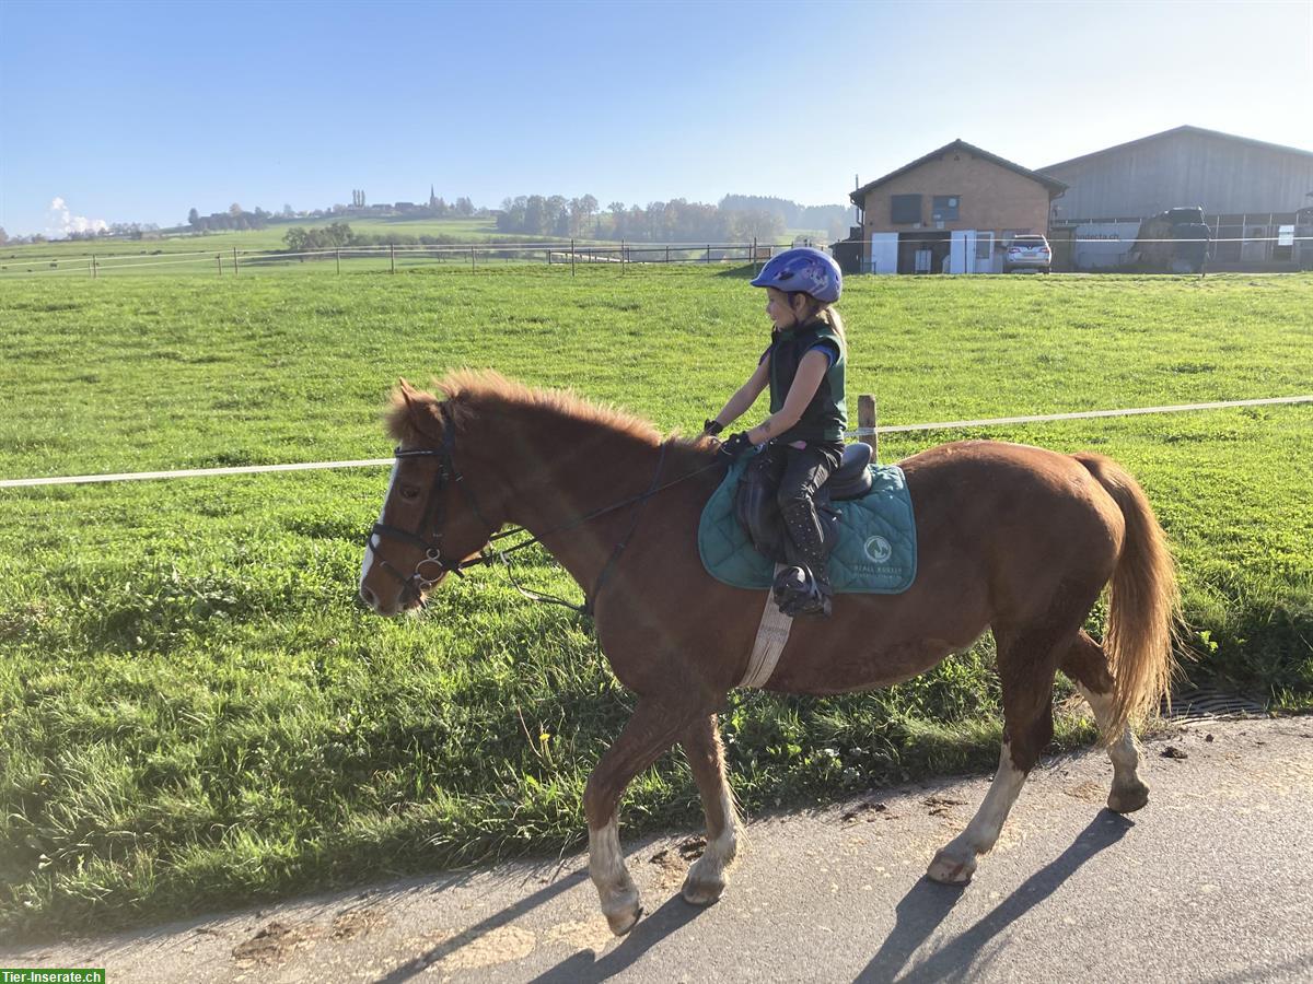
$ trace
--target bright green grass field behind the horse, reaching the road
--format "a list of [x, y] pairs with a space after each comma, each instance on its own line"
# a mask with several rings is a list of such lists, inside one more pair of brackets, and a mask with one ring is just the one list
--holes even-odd
[[[1313, 277], [853, 278], [850, 394], [903, 424], [1313, 392]], [[470, 365], [696, 429], [765, 341], [743, 272], [0, 283], [0, 478], [374, 458], [398, 377]], [[931, 432], [1094, 449], [1180, 563], [1192, 673], [1313, 705], [1313, 407]], [[628, 714], [590, 625], [478, 572], [355, 602], [386, 471], [0, 491], [0, 929], [159, 920], [580, 842]], [[576, 589], [529, 551], [524, 579]], [[990, 643], [826, 701], [735, 694], [751, 810], [989, 768]], [[1064, 715], [1058, 744], [1092, 732]], [[679, 756], [629, 834], [697, 820]]]

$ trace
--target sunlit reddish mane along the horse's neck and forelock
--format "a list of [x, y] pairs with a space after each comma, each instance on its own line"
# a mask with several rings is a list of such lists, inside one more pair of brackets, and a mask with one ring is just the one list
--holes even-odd
[[[653, 447], [662, 442], [660, 432], [647, 420], [616, 407], [587, 400], [570, 390], [540, 390], [507, 379], [491, 369], [460, 369], [448, 373], [435, 386], [446, 395], [448, 413], [457, 426], [467, 416], [479, 411], [506, 411], [511, 408], [537, 408], [563, 417], [600, 424]], [[441, 430], [437, 422], [440, 398], [432, 392], [410, 390], [412, 403], [424, 404], [435, 416], [435, 426], [418, 428], [403, 395], [402, 387], [393, 390], [391, 407], [386, 415], [387, 433], [397, 441], [412, 442], [418, 438], [433, 440]], [[693, 446], [699, 440], [679, 440]]]

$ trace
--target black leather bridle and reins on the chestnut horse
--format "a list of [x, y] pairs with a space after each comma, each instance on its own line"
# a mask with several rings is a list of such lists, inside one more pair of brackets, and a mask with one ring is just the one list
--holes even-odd
[[[630, 538], [633, 538], [634, 530], [638, 529], [638, 521], [642, 518], [643, 506], [647, 504], [647, 500], [658, 495], [659, 492], [664, 492], [667, 488], [671, 488], [672, 485], [678, 485], [681, 482], [687, 482], [688, 479], [696, 475], [701, 475], [702, 472], [721, 467], [722, 464], [720, 461], [714, 461], [710, 464], [706, 464], [701, 468], [696, 468], [688, 472], [687, 475], [681, 475], [678, 479], [674, 479], [664, 484], [658, 484], [660, 482], [662, 470], [666, 466], [666, 449], [668, 447], [668, 442], [662, 441], [660, 457], [656, 461], [656, 471], [653, 474], [651, 484], [649, 485], [646, 492], [637, 496], [632, 496], [620, 502], [614, 502], [613, 505], [603, 506], [601, 509], [593, 509], [592, 512], [584, 513], [583, 516], [570, 520], [569, 522], [563, 522], [559, 526], [554, 526], [550, 530], [544, 531], [542, 534], [530, 537], [527, 541], [516, 543], [513, 547], [509, 547], [507, 550], [498, 550], [492, 546], [498, 541], [506, 539], [507, 537], [513, 537], [520, 533], [528, 533], [528, 530], [525, 530], [525, 527], [523, 526], [513, 526], [509, 530], [491, 533], [492, 525], [484, 518], [483, 513], [479, 510], [479, 504], [474, 496], [473, 489], [470, 489], [470, 487], [465, 484], [465, 476], [456, 467], [456, 462], [452, 457], [452, 451], [456, 445], [453, 421], [450, 420], [450, 416], [446, 411], [446, 404], [445, 403], [440, 404], [440, 407], [445, 424], [445, 426], [442, 428], [442, 446], [440, 449], [421, 449], [414, 451], [403, 451], [400, 449], [397, 449], [394, 451], [394, 457], [398, 461], [403, 458], [439, 459], [437, 476], [433, 479], [433, 487], [429, 489], [428, 505], [424, 509], [424, 516], [420, 520], [419, 529], [415, 533], [411, 533], [410, 530], [402, 530], [398, 529], [397, 526], [389, 526], [387, 523], [383, 522], [376, 522], [370, 527], [369, 535], [365, 539], [365, 543], [369, 547], [373, 547], [374, 537], [387, 537], [391, 539], [403, 541], [412, 546], [418, 546], [424, 551], [424, 556], [420, 558], [419, 563], [415, 564], [415, 569], [411, 572], [410, 577], [404, 576], [400, 571], [389, 564], [381, 556], [378, 558], [378, 563], [382, 565], [382, 568], [402, 584], [403, 592], [414, 594], [414, 597], [418, 598], [421, 604], [424, 592], [428, 590], [431, 586], [433, 586], [442, 577], [442, 575], [454, 573], [457, 577], [463, 577], [465, 575], [462, 572], [470, 567], [482, 567], [491, 564], [495, 560], [500, 560], [503, 564], [506, 564], [507, 576], [511, 579], [511, 584], [524, 597], [529, 598], [530, 601], [542, 601], [542, 602], [550, 602], [553, 605], [562, 605], [572, 611], [578, 611], [579, 614], [592, 617], [593, 605], [597, 601], [597, 596], [601, 593], [601, 589], [605, 585], [607, 579], [614, 569], [614, 565], [620, 560], [620, 556], [625, 551], [625, 547], [629, 544]], [[462, 489], [465, 499], [470, 505], [470, 509], [474, 510], [474, 514], [479, 518], [482, 523], [490, 527], [487, 546], [479, 552], [477, 558], [473, 558], [470, 560], [449, 560], [442, 556], [442, 523], [445, 522], [445, 516], [441, 514], [442, 510], [437, 508], [437, 504], [441, 500], [440, 493], [448, 482], [454, 482]], [[638, 505], [638, 509], [634, 510], [633, 522], [630, 522], [629, 529], [625, 531], [624, 538], [616, 544], [614, 550], [612, 550], [611, 556], [607, 559], [607, 563], [601, 568], [601, 573], [597, 575], [597, 580], [593, 584], [592, 592], [584, 593], [583, 605], [574, 605], [563, 598], [557, 598], [551, 594], [538, 594], [536, 592], [530, 592], [523, 588], [520, 584], [516, 583], [515, 573], [511, 569], [511, 562], [507, 559], [507, 555], [515, 554], [516, 551], [524, 550], [525, 547], [532, 547], [534, 543], [541, 543], [544, 537], [550, 537], [554, 533], [561, 533], [563, 530], [574, 529], [575, 526], [582, 526], [583, 523], [591, 520], [596, 520], [600, 516], [605, 516], [607, 513], [613, 513], [617, 509], [624, 509], [630, 505]], [[435, 531], [433, 539], [431, 541], [424, 539], [425, 533], [429, 530]], [[437, 572], [432, 577], [428, 577], [424, 573], [424, 569], [429, 565], [437, 568]]]

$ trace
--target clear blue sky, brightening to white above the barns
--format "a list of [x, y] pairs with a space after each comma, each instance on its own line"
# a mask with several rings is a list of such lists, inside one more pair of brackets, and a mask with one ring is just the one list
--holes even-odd
[[1039, 168], [1182, 123], [1313, 148], [1313, 0], [0, 0], [11, 235], [429, 184], [821, 205], [957, 136]]

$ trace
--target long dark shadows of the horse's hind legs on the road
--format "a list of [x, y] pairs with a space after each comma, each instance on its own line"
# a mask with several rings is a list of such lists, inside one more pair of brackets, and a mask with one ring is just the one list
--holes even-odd
[[981, 968], [982, 954], [990, 939], [1053, 895], [1081, 865], [1120, 841], [1132, 827], [1134, 823], [1120, 813], [1100, 811], [1070, 848], [1025, 879], [993, 912], [965, 933], [934, 949], [909, 970], [913, 955], [930, 941], [962, 897], [962, 888], [922, 878], [898, 903], [893, 930], [856, 981], [892, 984], [894, 980], [945, 981], [972, 977]]

